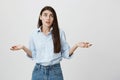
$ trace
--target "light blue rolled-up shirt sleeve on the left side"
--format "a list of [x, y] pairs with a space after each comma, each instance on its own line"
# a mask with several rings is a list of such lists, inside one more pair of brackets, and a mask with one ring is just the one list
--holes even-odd
[[34, 60], [36, 57], [36, 48], [35, 48], [35, 44], [33, 41], [33, 36], [30, 36], [30, 39], [29, 39], [29, 49], [32, 52], [32, 60]]

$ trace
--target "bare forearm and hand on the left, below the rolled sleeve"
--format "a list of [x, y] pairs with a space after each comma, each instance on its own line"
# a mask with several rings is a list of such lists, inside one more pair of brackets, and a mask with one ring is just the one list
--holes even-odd
[[25, 51], [25, 53], [30, 57], [30, 58], [32, 58], [32, 52], [27, 48], [27, 47], [25, 47], [24, 45], [16, 45], [16, 46], [12, 46], [11, 48], [10, 48], [10, 50], [12, 50], [12, 51], [16, 51], [16, 50], [24, 50]]

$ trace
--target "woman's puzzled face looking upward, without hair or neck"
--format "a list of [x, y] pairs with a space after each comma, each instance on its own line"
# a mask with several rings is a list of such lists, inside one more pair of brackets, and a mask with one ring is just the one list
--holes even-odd
[[40, 20], [42, 20], [43, 26], [50, 28], [54, 20], [52, 12], [49, 10], [43, 11]]

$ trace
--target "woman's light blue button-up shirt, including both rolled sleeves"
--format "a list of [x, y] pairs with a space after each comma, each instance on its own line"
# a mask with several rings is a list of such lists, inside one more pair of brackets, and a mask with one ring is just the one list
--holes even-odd
[[30, 36], [29, 49], [32, 51], [32, 59], [41, 65], [53, 65], [59, 63], [62, 58], [69, 59], [70, 46], [66, 42], [65, 33], [60, 29], [61, 51], [54, 53], [51, 30], [48, 35], [43, 34], [41, 29], [35, 29]]

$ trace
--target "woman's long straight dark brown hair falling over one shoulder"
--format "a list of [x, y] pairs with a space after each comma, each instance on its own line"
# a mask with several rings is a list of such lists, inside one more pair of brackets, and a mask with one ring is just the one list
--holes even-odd
[[[59, 34], [59, 27], [58, 27], [58, 21], [57, 21], [57, 15], [55, 10], [51, 6], [45, 6], [41, 12], [40, 15], [42, 15], [43, 11], [49, 10], [53, 14], [53, 24], [51, 25], [52, 29], [52, 39], [54, 44], [54, 53], [59, 53], [61, 50], [61, 43], [60, 43], [60, 34]], [[40, 28], [42, 26], [42, 21], [40, 20], [40, 15], [38, 19], [38, 25], [37, 27]]]

